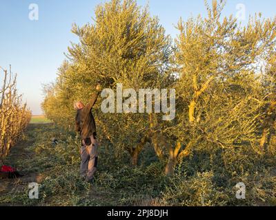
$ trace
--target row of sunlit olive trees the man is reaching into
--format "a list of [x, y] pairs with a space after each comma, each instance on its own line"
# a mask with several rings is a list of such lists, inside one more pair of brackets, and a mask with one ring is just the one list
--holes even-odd
[[57, 81], [45, 87], [47, 117], [72, 128], [72, 102], [88, 101], [97, 83], [170, 88], [177, 94], [175, 120], [165, 122], [158, 113], [103, 114], [98, 106], [99, 135], [118, 153], [128, 151], [134, 165], [150, 143], [167, 162], [166, 174], [195, 149], [273, 153], [276, 18], [256, 15], [242, 26], [233, 16], [221, 17], [225, 2], [205, 3], [208, 16], [180, 19], [174, 42], [135, 0], [98, 5], [94, 23], [73, 26], [79, 43], [68, 48]]

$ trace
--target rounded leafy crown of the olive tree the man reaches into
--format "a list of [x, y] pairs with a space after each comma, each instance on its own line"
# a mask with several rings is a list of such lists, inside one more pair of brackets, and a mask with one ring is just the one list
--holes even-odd
[[[59, 125], [70, 126], [73, 101], [87, 102], [97, 83], [111, 89], [122, 83], [137, 92], [169, 85], [170, 38], [147, 8], [132, 0], [113, 0], [96, 8], [94, 20], [73, 26], [79, 43], [68, 49], [70, 63], [63, 63], [55, 85], [46, 86], [42, 107]], [[148, 115], [103, 114], [97, 107], [99, 135], [107, 137], [117, 153], [141, 151], [141, 139], [148, 137]]]

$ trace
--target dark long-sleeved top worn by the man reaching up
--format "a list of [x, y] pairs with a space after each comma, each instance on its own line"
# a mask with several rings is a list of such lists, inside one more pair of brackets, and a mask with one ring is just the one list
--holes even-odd
[[81, 135], [81, 140], [85, 140], [92, 135], [97, 135], [96, 123], [92, 114], [92, 107], [95, 105], [99, 93], [93, 94], [91, 100], [83, 109], [77, 111], [75, 120], [75, 130]]

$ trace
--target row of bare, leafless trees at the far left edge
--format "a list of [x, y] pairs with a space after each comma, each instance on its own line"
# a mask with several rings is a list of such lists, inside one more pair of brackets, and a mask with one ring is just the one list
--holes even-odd
[[10, 148], [19, 140], [30, 122], [31, 113], [22, 106], [21, 96], [17, 94], [17, 76], [1, 69], [3, 85], [0, 88], [0, 162], [10, 152]]

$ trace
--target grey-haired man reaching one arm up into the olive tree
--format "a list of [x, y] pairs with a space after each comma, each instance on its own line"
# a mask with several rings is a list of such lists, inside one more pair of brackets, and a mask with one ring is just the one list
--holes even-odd
[[97, 102], [101, 86], [97, 85], [96, 90], [97, 93], [93, 94], [86, 106], [82, 102], [74, 104], [77, 111], [75, 130], [81, 135], [81, 177], [89, 183], [92, 182], [98, 162], [97, 132], [92, 107]]

